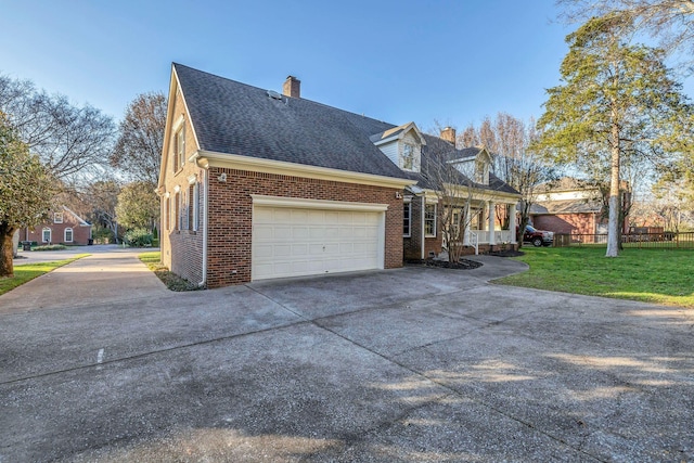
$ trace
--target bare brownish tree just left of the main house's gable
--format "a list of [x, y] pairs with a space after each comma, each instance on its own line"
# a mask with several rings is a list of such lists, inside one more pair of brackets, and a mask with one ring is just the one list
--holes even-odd
[[147, 182], [154, 190], [159, 177], [165, 127], [164, 93], [138, 95], [120, 123], [111, 165], [127, 172], [133, 180]]

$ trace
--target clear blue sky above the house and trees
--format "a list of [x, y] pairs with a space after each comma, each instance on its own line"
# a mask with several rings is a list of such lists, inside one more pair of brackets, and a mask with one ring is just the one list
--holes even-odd
[[554, 0], [0, 0], [0, 73], [120, 119], [170, 63], [393, 124], [539, 117], [569, 28]]

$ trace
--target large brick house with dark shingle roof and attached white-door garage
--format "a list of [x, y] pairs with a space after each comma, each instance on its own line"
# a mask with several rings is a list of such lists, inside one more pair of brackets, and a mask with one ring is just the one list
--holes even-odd
[[[488, 164], [485, 150], [455, 150], [413, 123], [396, 127], [301, 99], [292, 76], [280, 94], [174, 64], [158, 184], [162, 260], [219, 287], [438, 254], [436, 210], [445, 205], [423, 169], [440, 143], [451, 162]], [[479, 180], [480, 210], [506, 205], [511, 214], [517, 194], [491, 175]], [[477, 224], [488, 230], [493, 216]]]

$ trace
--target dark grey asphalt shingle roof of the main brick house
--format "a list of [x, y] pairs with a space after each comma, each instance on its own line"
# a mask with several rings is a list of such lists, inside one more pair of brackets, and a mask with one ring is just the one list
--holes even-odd
[[[417, 180], [434, 188], [425, 175], [401, 170], [373, 144], [404, 126], [372, 119], [306, 99], [296, 99], [174, 64], [200, 147], [265, 159], [338, 170]], [[422, 170], [428, 153], [450, 152], [450, 158], [476, 156], [480, 149], [457, 150], [451, 143], [424, 134]], [[448, 155], [447, 155], [448, 156]], [[462, 177], [462, 175], [461, 175]], [[485, 190], [516, 193], [490, 175]]]

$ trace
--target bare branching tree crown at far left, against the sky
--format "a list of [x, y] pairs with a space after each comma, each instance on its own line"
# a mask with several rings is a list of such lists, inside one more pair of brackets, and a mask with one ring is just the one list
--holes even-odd
[[38, 91], [29, 80], [0, 76], [0, 111], [57, 179], [75, 182], [107, 166], [114, 124], [100, 110]]

